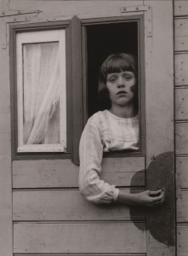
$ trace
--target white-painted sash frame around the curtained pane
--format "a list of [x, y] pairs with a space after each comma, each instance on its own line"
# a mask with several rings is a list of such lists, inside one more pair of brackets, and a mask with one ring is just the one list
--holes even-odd
[[[66, 152], [66, 29], [20, 32], [16, 37], [16, 61], [17, 61], [17, 102], [18, 102], [18, 153], [39, 153], [39, 152]], [[24, 67], [23, 49], [24, 44], [54, 43], [58, 42], [60, 49], [60, 143], [51, 144], [24, 144], [23, 136], [23, 91], [24, 91]], [[65, 55], [65, 56], [64, 56]], [[22, 85], [23, 84], [23, 85]]]

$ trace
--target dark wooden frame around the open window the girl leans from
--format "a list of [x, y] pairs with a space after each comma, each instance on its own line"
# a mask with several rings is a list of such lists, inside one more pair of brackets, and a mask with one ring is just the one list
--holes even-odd
[[116, 17], [81, 19], [82, 41], [83, 41], [83, 126], [88, 119], [88, 94], [87, 94], [87, 26], [102, 25], [113, 22], [125, 23], [136, 21], [138, 24], [138, 81], [139, 81], [139, 109], [140, 109], [140, 150], [139, 151], [113, 151], [104, 153], [104, 157], [136, 157], [145, 156], [145, 26], [144, 15], [123, 15]]

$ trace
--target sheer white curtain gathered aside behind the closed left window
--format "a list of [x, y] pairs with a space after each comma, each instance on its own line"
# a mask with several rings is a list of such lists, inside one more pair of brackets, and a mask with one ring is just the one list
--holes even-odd
[[25, 44], [24, 143], [60, 143], [60, 63], [58, 43]]

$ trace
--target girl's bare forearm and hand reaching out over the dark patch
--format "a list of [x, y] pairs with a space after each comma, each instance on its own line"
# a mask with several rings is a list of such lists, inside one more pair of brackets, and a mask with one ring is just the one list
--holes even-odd
[[117, 201], [138, 207], [159, 207], [164, 199], [164, 191], [159, 189], [157, 191], [145, 190], [137, 194], [127, 194], [124, 191], [120, 191]]

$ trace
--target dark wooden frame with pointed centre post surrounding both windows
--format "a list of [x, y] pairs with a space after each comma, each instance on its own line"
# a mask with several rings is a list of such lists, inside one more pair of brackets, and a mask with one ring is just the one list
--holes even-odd
[[[58, 22], [44, 22], [37, 24], [21, 24], [10, 26], [10, 82], [11, 82], [11, 130], [12, 130], [12, 158], [14, 160], [31, 159], [66, 159], [79, 165], [79, 141], [83, 127], [87, 122], [87, 44], [86, 26], [108, 23], [124, 23], [136, 21], [138, 23], [138, 52], [139, 60], [139, 109], [140, 109], [140, 151], [111, 152], [104, 157], [145, 156], [145, 29], [144, 15], [125, 15], [94, 19], [78, 19]], [[62, 153], [30, 153], [17, 154], [17, 101], [16, 101], [16, 59], [15, 39], [17, 32], [42, 31], [66, 28], [66, 98], [67, 98], [67, 152]], [[141, 50], [140, 50], [141, 49]]]

